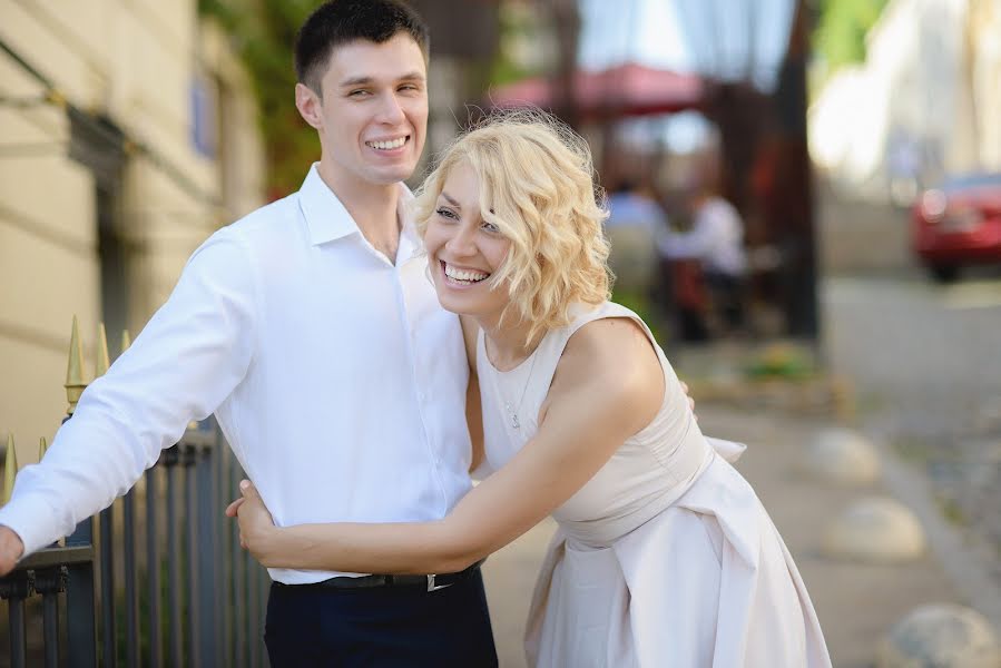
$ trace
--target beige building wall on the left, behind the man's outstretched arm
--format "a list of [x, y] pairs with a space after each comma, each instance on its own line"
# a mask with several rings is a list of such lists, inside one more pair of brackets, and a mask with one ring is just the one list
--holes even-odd
[[[69, 157], [60, 100], [126, 137], [111, 227], [135, 335], [169, 295], [188, 255], [214, 229], [263, 202], [264, 156], [251, 84], [196, 0], [0, 0], [0, 448], [23, 464], [66, 410], [70, 323], [85, 369], [114, 298], [101, 278], [97, 180]], [[194, 140], [192, 88], [204, 82], [215, 150]], [[118, 285], [120, 288], [121, 285]], [[111, 357], [120, 332], [109, 332]]]

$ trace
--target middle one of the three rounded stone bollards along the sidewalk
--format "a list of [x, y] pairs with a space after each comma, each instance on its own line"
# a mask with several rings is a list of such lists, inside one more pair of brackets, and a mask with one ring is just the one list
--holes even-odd
[[924, 553], [924, 530], [907, 507], [893, 499], [866, 497], [846, 508], [827, 528], [828, 557], [896, 563]]

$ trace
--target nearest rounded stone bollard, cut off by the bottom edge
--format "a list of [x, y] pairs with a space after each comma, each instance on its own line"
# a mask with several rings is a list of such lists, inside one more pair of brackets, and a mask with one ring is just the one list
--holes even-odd
[[922, 606], [880, 644], [876, 668], [998, 668], [1001, 647], [990, 622], [953, 605]]

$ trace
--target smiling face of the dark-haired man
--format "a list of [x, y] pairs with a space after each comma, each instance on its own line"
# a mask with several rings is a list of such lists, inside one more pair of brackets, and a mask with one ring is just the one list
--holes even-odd
[[312, 117], [300, 106], [320, 132], [331, 185], [389, 185], [413, 174], [428, 127], [426, 76], [421, 48], [403, 32], [334, 49], [322, 104]]

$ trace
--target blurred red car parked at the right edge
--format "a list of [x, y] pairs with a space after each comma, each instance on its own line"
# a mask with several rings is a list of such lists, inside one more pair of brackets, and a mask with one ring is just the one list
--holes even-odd
[[973, 174], [925, 190], [912, 210], [914, 252], [936, 281], [964, 265], [1001, 265], [1001, 174]]

